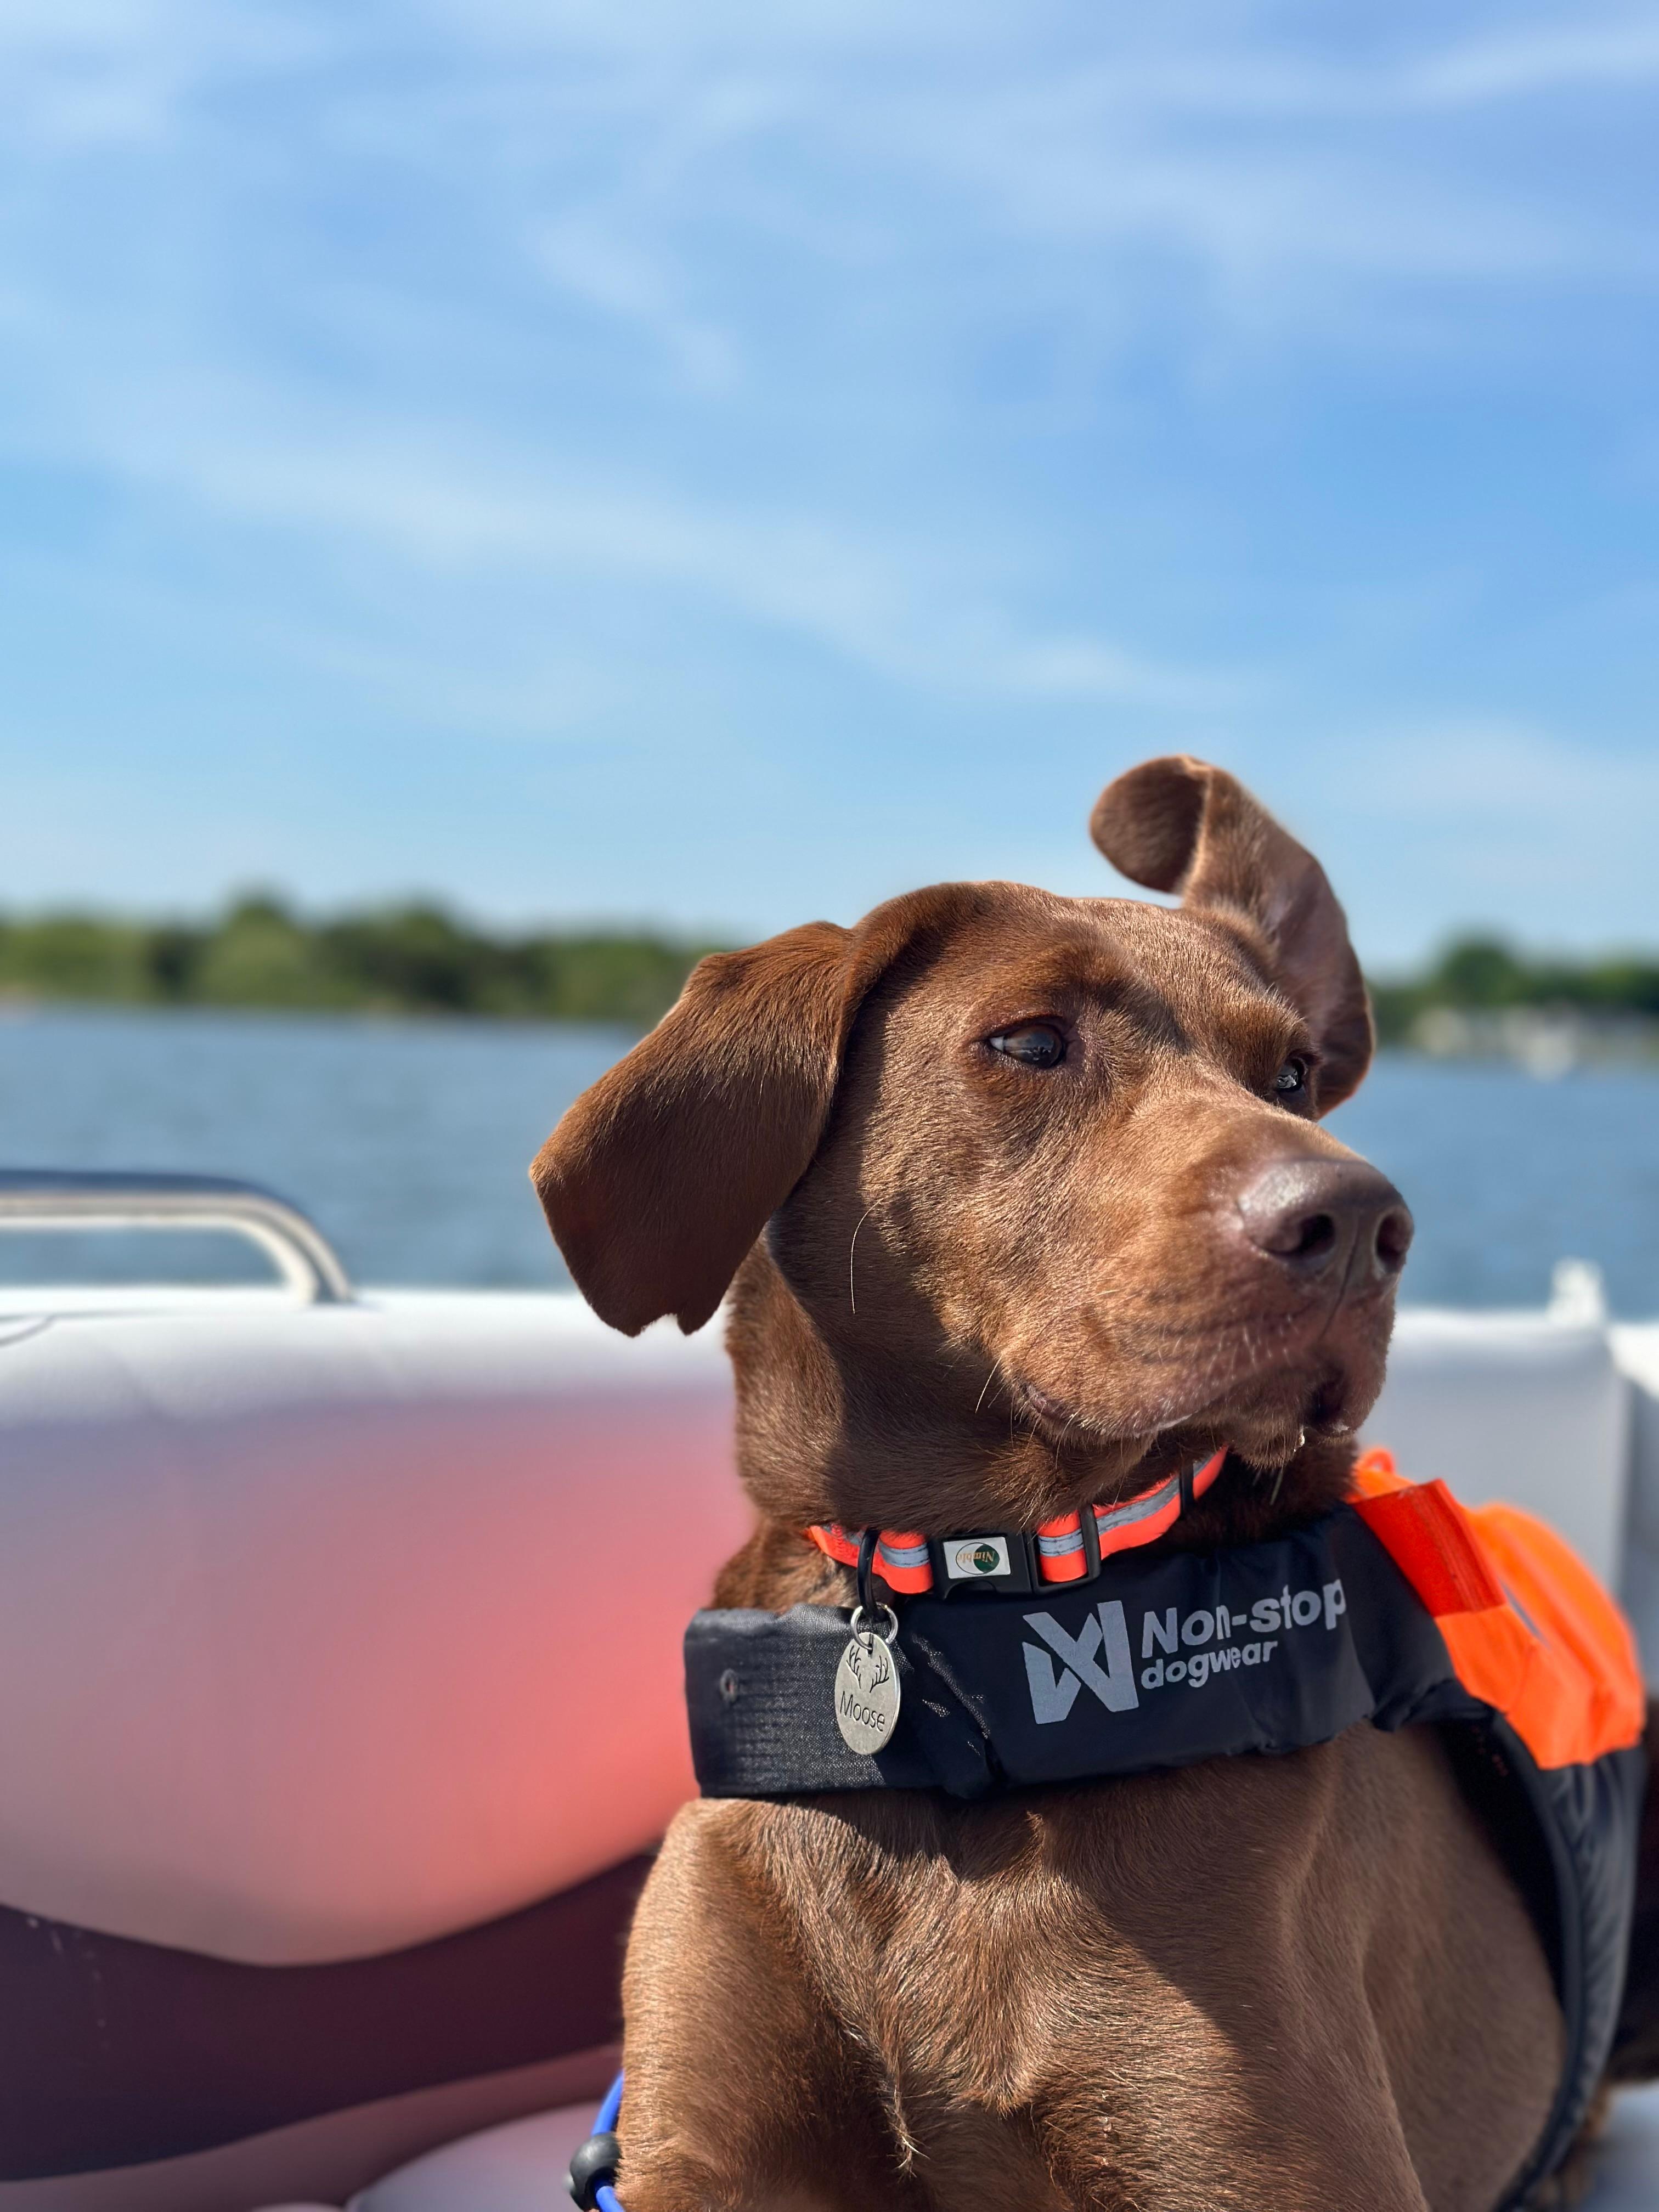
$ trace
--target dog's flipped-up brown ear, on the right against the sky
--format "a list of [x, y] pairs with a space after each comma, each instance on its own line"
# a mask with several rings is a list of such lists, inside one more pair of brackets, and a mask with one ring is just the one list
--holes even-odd
[[1285, 995], [1318, 1040], [1318, 1108], [1338, 1106], [1371, 1064], [1371, 1006], [1325, 869], [1223, 768], [1186, 752], [1130, 768], [1099, 794], [1091, 834], [1113, 867], [1188, 907], [1219, 907], [1261, 931]]

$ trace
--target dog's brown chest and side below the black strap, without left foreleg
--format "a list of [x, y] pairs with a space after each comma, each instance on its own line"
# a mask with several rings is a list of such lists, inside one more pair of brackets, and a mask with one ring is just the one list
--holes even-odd
[[[1367, 2174], [1394, 2208], [1416, 2172], [1484, 2212], [1553, 2095], [1548, 1969], [1422, 1732], [978, 1805], [699, 1801], [664, 1858], [741, 1896], [745, 1951], [763, 1913], [801, 2064], [936, 2203], [1259, 2212]], [[650, 1918], [672, 2002], [710, 1929]]]

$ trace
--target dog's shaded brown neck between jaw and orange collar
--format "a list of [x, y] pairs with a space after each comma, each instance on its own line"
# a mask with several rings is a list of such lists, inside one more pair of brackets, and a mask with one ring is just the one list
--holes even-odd
[[[739, 1473], [761, 1520], [741, 1555], [745, 1595], [723, 1595], [732, 1604], [838, 1599], [847, 1571], [812, 1548], [812, 1524], [1035, 1531], [1055, 1513], [1130, 1498], [1225, 1442], [1091, 1438], [1057, 1451], [1006, 1400], [989, 1413], [975, 1407], [949, 1354], [896, 1360], [874, 1347], [856, 1363], [838, 1356], [763, 1248], [732, 1287], [728, 1349]], [[1159, 1544], [1217, 1548], [1279, 1535], [1329, 1511], [1349, 1489], [1352, 1464], [1354, 1442], [1338, 1438], [1307, 1438], [1281, 1469], [1228, 1460]]]

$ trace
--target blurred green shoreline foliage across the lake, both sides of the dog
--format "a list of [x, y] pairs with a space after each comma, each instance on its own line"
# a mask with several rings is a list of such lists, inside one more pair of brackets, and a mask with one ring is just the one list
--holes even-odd
[[[208, 922], [0, 916], [0, 995], [648, 1029], [706, 951], [719, 947], [650, 931], [495, 936], [434, 902], [307, 920], [261, 894]], [[1371, 1004], [1383, 1044], [1409, 1044], [1422, 1015], [1438, 1009], [1502, 1015], [1531, 1006], [1659, 1022], [1659, 956], [1546, 960], [1469, 936], [1418, 975], [1374, 980]]]

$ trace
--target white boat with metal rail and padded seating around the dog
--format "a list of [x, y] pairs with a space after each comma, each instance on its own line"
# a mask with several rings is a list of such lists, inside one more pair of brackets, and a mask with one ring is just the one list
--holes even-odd
[[[546, 2212], [617, 2064], [679, 1639], [748, 1515], [719, 1327], [354, 1287], [252, 1183], [0, 1175], [259, 1287], [0, 1290], [0, 2212]], [[1551, 1520], [1659, 1670], [1659, 1321], [1405, 1307], [1365, 1442]], [[1626, 2093], [1597, 2212], [1659, 2201]]]

